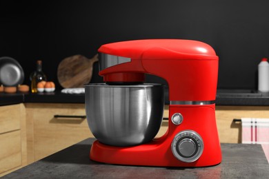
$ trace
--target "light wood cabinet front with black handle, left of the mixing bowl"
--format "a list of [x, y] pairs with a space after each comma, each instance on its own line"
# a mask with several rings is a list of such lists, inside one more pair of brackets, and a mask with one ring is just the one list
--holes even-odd
[[25, 103], [25, 105], [28, 163], [93, 137], [86, 118], [54, 117], [85, 116], [84, 104]]

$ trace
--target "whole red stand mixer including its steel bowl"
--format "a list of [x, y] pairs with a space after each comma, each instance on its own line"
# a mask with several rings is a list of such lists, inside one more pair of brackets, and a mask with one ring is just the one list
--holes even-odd
[[[221, 148], [215, 119], [219, 58], [210, 45], [190, 40], [148, 39], [109, 43], [102, 45], [99, 53], [99, 75], [103, 76], [103, 81], [107, 84], [93, 85], [98, 89], [92, 88], [90, 84], [86, 85], [88, 124], [92, 134], [97, 138], [90, 150], [92, 160], [118, 165], [161, 167], [206, 167], [221, 162]], [[152, 105], [152, 108], [148, 105], [136, 107], [139, 110], [146, 110], [147, 115], [148, 112], [150, 114], [159, 113], [159, 116], [163, 114], [159, 112], [163, 106], [162, 108], [155, 107], [155, 98], [152, 98], [152, 102], [148, 96], [145, 97], [146, 99], [137, 97], [137, 94], [142, 93], [143, 95], [155, 94], [155, 89], [162, 94], [161, 87], [158, 85], [152, 91], [150, 91], [151, 88], [147, 88], [151, 85], [143, 85], [145, 74], [160, 76], [168, 82], [170, 101], [168, 131], [161, 138], [154, 138], [159, 127], [155, 131], [140, 130], [139, 128], [145, 133], [145, 136], [151, 133], [153, 136], [147, 140], [143, 138], [137, 143], [126, 142], [123, 145], [117, 141], [114, 143], [113, 141], [118, 137], [123, 137], [122, 131], [126, 131], [126, 134], [132, 133], [132, 138], [135, 138], [135, 129], [141, 127], [140, 123], [144, 123], [143, 119], [139, 117], [139, 112], [132, 114], [135, 116], [133, 119], [135, 122], [130, 120], [130, 114], [121, 115], [125, 119], [121, 122], [117, 121], [116, 116], [119, 114], [116, 114], [116, 111], [124, 108], [124, 111], [131, 113], [132, 101], [136, 106], [137, 100]], [[137, 85], [139, 90], [127, 89], [128, 85], [130, 87]], [[111, 86], [114, 88], [106, 92], [105, 88]], [[119, 92], [116, 94], [115, 91]], [[100, 102], [99, 107], [102, 105], [108, 105], [108, 107], [90, 109], [93, 106], [90, 104], [91, 101], [99, 100], [105, 93], [108, 93], [108, 96], [104, 98], [103, 102]], [[122, 99], [126, 94], [134, 96], [126, 102], [127, 97]], [[120, 98], [121, 102], [115, 102], [114, 98]], [[130, 97], [128, 96], [128, 98]], [[109, 102], [112, 100], [114, 102]], [[122, 101], [125, 101], [123, 105]], [[133, 110], [137, 110], [136, 108]], [[104, 114], [108, 111], [110, 115]], [[99, 122], [101, 118], [104, 118], [102, 123]], [[153, 123], [160, 126], [160, 121], [159, 119], [153, 120]], [[148, 120], [146, 125], [152, 125], [151, 122], [152, 120]], [[107, 140], [103, 140], [105, 134], [99, 134], [101, 131], [110, 130], [106, 125], [114, 127], [116, 124], [123, 125], [123, 123], [124, 126], [130, 126], [130, 128], [127, 130], [121, 127], [114, 130], [114, 133], [117, 134], [108, 132]], [[133, 132], [132, 129], [134, 129]], [[118, 136], [110, 138], [110, 135]]]

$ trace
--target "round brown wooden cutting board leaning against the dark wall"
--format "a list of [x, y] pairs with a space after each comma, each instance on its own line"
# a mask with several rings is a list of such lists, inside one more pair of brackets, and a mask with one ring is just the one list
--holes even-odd
[[63, 88], [83, 87], [90, 83], [92, 65], [98, 61], [98, 54], [88, 59], [81, 54], [63, 59], [57, 69], [57, 78]]

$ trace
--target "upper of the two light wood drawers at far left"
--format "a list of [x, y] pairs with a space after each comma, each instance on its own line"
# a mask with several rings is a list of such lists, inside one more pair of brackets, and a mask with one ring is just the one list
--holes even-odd
[[20, 129], [20, 105], [0, 107], [0, 134]]

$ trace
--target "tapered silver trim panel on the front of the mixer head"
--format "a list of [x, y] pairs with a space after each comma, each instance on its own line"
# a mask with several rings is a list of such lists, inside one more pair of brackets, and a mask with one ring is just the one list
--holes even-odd
[[131, 59], [127, 57], [99, 53], [99, 70], [101, 71], [108, 67], [119, 65], [121, 63], [128, 63], [130, 61]]

